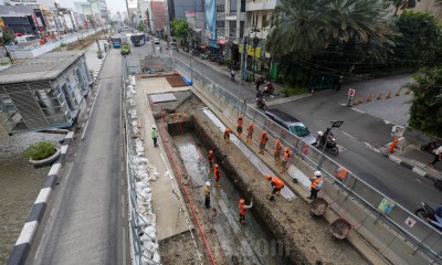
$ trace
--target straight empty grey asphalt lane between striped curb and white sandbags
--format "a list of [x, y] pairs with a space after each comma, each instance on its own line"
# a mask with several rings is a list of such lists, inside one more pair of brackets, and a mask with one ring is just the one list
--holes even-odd
[[27, 264], [129, 263], [118, 50], [97, 84], [85, 138], [76, 134]]

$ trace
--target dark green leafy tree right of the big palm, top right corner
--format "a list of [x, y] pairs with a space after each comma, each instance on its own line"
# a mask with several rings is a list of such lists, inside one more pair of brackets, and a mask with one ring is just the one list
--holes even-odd
[[398, 35], [392, 47], [396, 64], [431, 65], [440, 60], [441, 25], [430, 13], [404, 11], [396, 21]]

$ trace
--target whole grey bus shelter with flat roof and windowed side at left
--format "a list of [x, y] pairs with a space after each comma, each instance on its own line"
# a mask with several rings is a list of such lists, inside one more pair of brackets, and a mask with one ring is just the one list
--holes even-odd
[[0, 72], [0, 121], [9, 134], [70, 127], [91, 83], [84, 51], [13, 65]]

